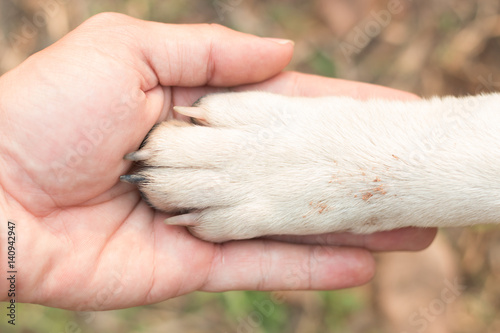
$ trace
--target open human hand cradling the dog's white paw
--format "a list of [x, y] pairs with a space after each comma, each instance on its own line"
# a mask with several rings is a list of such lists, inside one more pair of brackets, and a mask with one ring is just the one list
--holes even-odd
[[[371, 251], [420, 250], [435, 229], [212, 244], [163, 223], [120, 183], [123, 156], [207, 92], [415, 98], [281, 73], [293, 44], [218, 25], [100, 14], [0, 78], [0, 272], [16, 222], [16, 301], [72, 310], [155, 303], [202, 290], [338, 289], [368, 282]], [[0, 290], [8, 290], [0, 279]], [[0, 300], [8, 301], [6, 292]]]

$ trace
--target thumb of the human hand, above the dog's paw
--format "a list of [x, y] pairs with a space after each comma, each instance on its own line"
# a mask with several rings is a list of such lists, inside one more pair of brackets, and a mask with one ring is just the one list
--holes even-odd
[[166, 86], [234, 86], [268, 79], [290, 62], [293, 43], [260, 38], [216, 24], [165, 25], [154, 31], [143, 53]]

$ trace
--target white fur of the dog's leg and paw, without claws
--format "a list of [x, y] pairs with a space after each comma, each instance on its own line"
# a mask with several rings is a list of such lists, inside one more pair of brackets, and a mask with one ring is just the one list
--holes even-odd
[[206, 240], [500, 222], [500, 94], [416, 101], [208, 95], [165, 122], [139, 189]]

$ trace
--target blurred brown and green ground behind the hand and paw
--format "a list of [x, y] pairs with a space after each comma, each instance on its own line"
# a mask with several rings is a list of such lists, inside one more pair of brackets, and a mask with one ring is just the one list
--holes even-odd
[[[289, 70], [421, 96], [500, 90], [498, 0], [0, 0], [0, 74], [88, 17], [114, 11], [292, 39]], [[331, 292], [194, 293], [119, 311], [21, 305], [0, 332], [500, 332], [500, 229], [440, 231], [378, 254], [368, 285]]]

